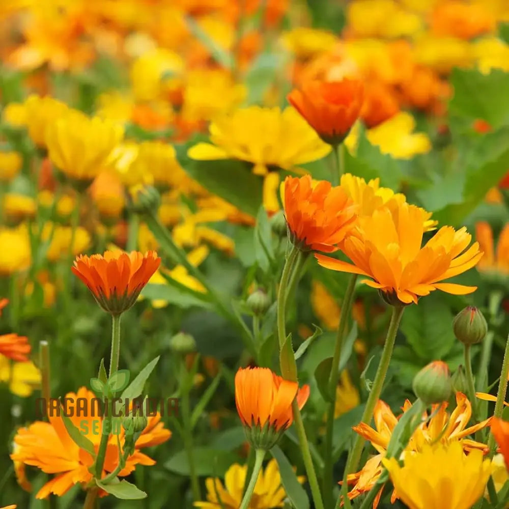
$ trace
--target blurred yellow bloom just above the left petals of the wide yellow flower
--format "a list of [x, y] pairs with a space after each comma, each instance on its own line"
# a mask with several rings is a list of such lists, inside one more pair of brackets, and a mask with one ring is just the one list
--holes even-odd
[[194, 70], [186, 76], [182, 115], [190, 121], [211, 120], [231, 111], [245, 99], [244, 84], [220, 70]]

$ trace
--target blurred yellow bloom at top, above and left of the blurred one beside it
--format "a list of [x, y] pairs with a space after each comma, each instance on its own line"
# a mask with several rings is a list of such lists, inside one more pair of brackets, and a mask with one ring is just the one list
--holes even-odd
[[157, 48], [139, 56], [131, 65], [130, 79], [136, 101], [158, 99], [165, 74], [180, 74], [184, 69], [181, 56], [173, 51]]

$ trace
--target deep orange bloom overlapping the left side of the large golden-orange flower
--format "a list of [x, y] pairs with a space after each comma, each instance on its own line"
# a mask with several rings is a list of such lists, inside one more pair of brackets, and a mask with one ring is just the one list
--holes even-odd
[[292, 242], [302, 250], [337, 250], [357, 217], [345, 189], [309, 175], [286, 178], [284, 202]]

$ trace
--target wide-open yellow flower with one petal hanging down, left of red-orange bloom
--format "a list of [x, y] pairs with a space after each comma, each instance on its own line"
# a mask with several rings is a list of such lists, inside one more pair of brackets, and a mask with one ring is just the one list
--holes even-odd
[[[331, 150], [293, 107], [249, 106], [216, 119], [209, 127], [212, 143], [199, 143], [188, 150], [191, 159], [211, 161], [238, 159], [253, 165], [263, 175], [264, 204], [279, 209], [279, 168], [295, 171], [299, 164], [316, 161]], [[269, 171], [271, 171], [269, 173]]]

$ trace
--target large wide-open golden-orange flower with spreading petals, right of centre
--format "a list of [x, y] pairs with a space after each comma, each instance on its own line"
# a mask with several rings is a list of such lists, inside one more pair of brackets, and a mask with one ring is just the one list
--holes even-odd
[[353, 263], [315, 254], [318, 263], [371, 277], [362, 282], [404, 304], [417, 303], [434, 290], [455, 295], [475, 291], [477, 287], [440, 282], [472, 268], [483, 256], [477, 242], [467, 249], [471, 235], [466, 228], [443, 227], [421, 248], [426, 211], [407, 203], [396, 205], [358, 218], [357, 228], [341, 247]]

